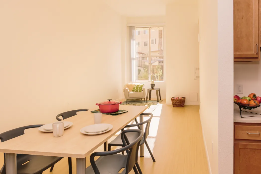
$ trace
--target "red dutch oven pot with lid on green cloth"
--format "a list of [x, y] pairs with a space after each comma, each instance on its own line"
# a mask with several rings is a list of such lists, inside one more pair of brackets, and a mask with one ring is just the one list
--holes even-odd
[[100, 112], [102, 113], [114, 113], [118, 112], [120, 108], [120, 104], [122, 102], [120, 101], [111, 101], [111, 99], [108, 99], [109, 101], [103, 101], [100, 103], [96, 103], [96, 105], [99, 106]]

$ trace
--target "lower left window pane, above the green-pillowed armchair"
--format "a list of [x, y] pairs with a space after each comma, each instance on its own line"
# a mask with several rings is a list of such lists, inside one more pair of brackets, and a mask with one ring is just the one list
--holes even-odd
[[149, 58], [136, 57], [136, 80], [149, 80]]

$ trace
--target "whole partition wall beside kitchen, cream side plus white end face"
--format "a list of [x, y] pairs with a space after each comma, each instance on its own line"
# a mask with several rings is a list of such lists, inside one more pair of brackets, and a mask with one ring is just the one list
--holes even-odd
[[200, 0], [200, 119], [210, 173], [233, 173], [233, 1]]

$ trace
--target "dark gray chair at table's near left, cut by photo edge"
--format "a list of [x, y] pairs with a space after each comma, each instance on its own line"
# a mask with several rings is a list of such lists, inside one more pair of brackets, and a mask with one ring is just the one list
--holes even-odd
[[[20, 128], [12, 129], [0, 134], [0, 140], [2, 142], [13, 139], [17, 136], [21, 136], [25, 129], [38, 128], [42, 125], [28, 125]], [[43, 171], [53, 166], [60, 161], [63, 157], [41, 156], [41, 155], [26, 155], [16, 154], [16, 168], [17, 174], [41, 174]], [[4, 153], [4, 165], [0, 170], [1, 174], [6, 173], [5, 168], [5, 153]]]

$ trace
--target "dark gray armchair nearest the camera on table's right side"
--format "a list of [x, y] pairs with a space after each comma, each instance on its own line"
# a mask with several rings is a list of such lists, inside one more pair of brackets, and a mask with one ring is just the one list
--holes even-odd
[[[135, 134], [137, 136], [137, 139], [134, 140], [132, 143], [129, 143], [126, 136], [127, 133]], [[134, 170], [135, 174], [142, 174], [140, 166], [138, 164], [138, 152], [140, 141], [143, 137], [143, 131], [139, 129], [123, 130], [120, 136], [124, 147], [113, 151], [92, 153], [90, 156], [91, 165], [86, 168], [85, 173], [116, 174], [124, 168], [124, 170], [121, 172], [123, 174], [128, 174], [132, 169]], [[124, 151], [127, 151], [127, 155], [117, 154]], [[94, 157], [98, 156], [99, 158], [97, 160], [94, 160]]]

